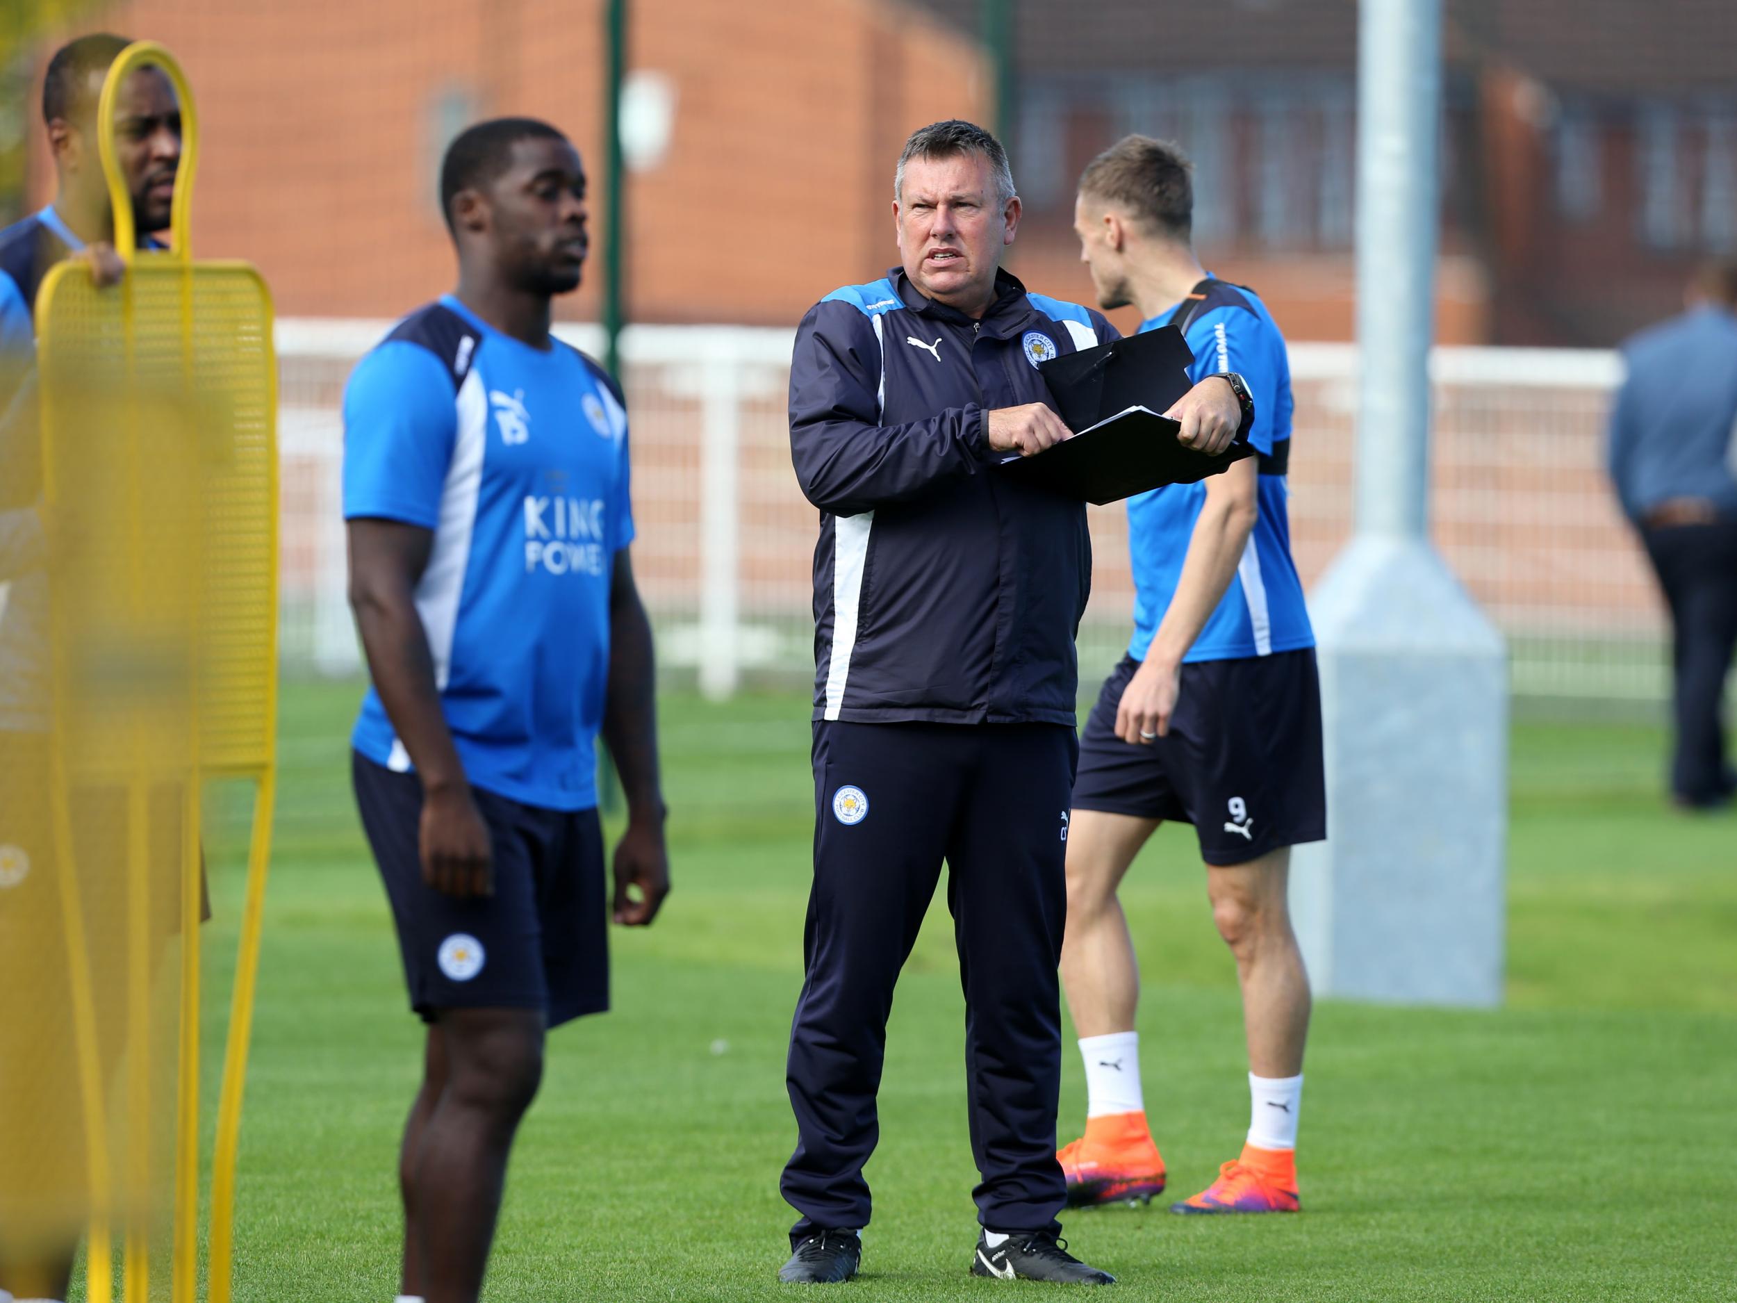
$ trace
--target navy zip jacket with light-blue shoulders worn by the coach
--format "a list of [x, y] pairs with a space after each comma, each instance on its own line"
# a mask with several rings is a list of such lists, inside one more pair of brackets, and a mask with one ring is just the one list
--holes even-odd
[[981, 320], [893, 269], [802, 318], [790, 453], [822, 511], [815, 719], [1072, 724], [1086, 507], [997, 471], [988, 412], [1054, 403], [1037, 363], [1117, 339], [1006, 271]]

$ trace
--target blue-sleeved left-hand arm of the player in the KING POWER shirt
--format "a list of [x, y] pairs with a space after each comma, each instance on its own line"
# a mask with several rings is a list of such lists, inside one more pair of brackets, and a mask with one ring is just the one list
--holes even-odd
[[422, 881], [450, 896], [474, 896], [493, 891], [488, 825], [441, 711], [415, 605], [457, 424], [445, 365], [415, 344], [382, 344], [344, 389], [349, 603], [373, 688], [422, 778]]

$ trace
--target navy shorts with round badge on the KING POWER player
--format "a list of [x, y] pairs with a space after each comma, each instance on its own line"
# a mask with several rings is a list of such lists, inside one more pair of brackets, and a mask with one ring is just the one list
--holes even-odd
[[472, 789], [495, 895], [453, 900], [422, 881], [422, 780], [354, 756], [356, 806], [398, 924], [410, 1008], [542, 1009], [549, 1027], [610, 1008], [603, 825]]

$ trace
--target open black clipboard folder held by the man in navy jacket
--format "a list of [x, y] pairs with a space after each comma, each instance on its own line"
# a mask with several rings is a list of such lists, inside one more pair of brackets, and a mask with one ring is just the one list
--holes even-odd
[[1159, 415], [1193, 387], [1193, 353], [1181, 330], [1160, 327], [1039, 365], [1072, 440], [1035, 457], [1007, 457], [1002, 471], [1025, 483], [1105, 506], [1164, 485], [1193, 485], [1252, 457], [1244, 434], [1209, 457], [1176, 441]]

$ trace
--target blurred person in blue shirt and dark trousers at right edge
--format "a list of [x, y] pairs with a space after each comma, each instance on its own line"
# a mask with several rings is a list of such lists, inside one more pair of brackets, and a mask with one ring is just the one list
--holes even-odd
[[1610, 480], [1671, 608], [1671, 796], [1707, 810], [1737, 792], [1720, 718], [1737, 650], [1737, 261], [1702, 268], [1687, 311], [1622, 358]]

